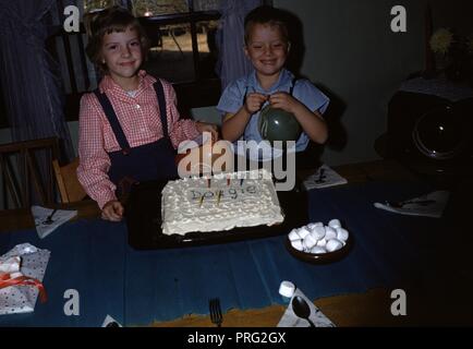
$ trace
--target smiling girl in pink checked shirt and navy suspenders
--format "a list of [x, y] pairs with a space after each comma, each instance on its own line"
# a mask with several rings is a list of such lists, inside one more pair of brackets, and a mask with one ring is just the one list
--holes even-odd
[[104, 219], [119, 221], [117, 191], [134, 181], [174, 179], [175, 148], [214, 125], [180, 120], [172, 85], [140, 70], [147, 39], [137, 20], [113, 7], [89, 15], [89, 59], [104, 74], [81, 99], [77, 177]]

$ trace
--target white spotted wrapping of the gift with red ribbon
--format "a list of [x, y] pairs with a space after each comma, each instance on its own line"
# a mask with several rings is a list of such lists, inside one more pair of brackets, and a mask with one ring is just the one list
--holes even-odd
[[[49, 255], [48, 250], [39, 250], [29, 243], [22, 243], [0, 256], [0, 265], [9, 264], [9, 269], [12, 266], [16, 268], [17, 265], [11, 262], [21, 261], [19, 264], [21, 273], [10, 274], [12, 278], [24, 275], [43, 281]], [[0, 288], [0, 315], [33, 312], [38, 293], [38, 289], [34, 286], [15, 285]]]

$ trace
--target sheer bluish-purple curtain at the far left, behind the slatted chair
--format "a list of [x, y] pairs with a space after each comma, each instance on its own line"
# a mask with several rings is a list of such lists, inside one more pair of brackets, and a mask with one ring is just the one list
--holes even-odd
[[13, 141], [57, 136], [71, 159], [59, 67], [45, 45], [56, 5], [56, 0], [0, 0], [0, 82]]

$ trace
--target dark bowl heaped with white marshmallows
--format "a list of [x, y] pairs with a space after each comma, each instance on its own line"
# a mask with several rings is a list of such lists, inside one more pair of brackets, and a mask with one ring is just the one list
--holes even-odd
[[352, 240], [340, 220], [331, 219], [328, 226], [318, 221], [292, 229], [286, 240], [286, 246], [293, 256], [302, 261], [330, 263], [347, 255]]

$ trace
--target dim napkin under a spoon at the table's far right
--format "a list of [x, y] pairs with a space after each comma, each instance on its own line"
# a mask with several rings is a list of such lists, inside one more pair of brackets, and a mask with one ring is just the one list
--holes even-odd
[[450, 192], [435, 191], [426, 195], [405, 200], [402, 207], [395, 207], [388, 204], [375, 203], [376, 208], [386, 209], [396, 214], [410, 216], [427, 216], [440, 218], [447, 205]]

